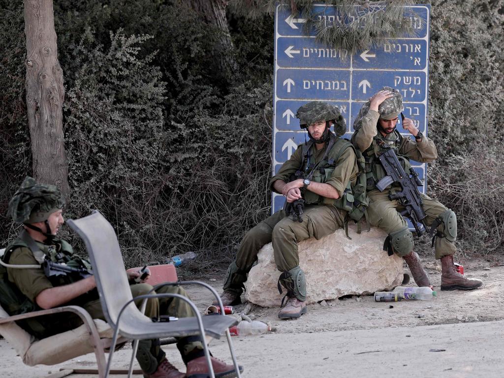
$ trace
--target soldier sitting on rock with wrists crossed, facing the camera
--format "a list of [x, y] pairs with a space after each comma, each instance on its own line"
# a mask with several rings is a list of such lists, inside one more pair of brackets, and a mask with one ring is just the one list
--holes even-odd
[[[273, 242], [275, 263], [281, 272], [278, 288], [281, 293], [281, 286], [287, 289], [282, 305], [287, 301], [278, 313], [280, 319], [295, 319], [306, 313], [306, 283], [299, 267], [297, 243], [313, 237], [320, 239], [344, 227], [346, 194], [358, 173], [354, 148], [338, 138], [345, 133], [346, 124], [337, 107], [308, 102], [297, 110], [296, 116], [301, 129], [308, 131], [309, 141], [299, 145], [271, 179], [271, 189], [284, 195], [289, 206], [245, 234], [236, 259], [227, 270], [221, 294], [225, 305], [240, 303], [243, 283], [259, 249]], [[336, 134], [330, 130], [332, 125]]]

